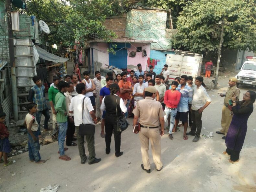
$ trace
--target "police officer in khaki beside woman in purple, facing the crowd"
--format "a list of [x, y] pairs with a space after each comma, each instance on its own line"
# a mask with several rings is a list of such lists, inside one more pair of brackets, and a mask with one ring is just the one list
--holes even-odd
[[222, 130], [216, 131], [216, 133], [223, 134], [224, 136], [222, 137], [222, 139], [226, 139], [227, 131], [228, 131], [229, 125], [230, 125], [232, 117], [233, 117], [233, 113], [229, 109], [231, 107], [228, 108], [228, 106], [230, 104], [232, 106], [232, 102], [229, 103], [229, 100], [232, 101], [231, 97], [236, 96], [237, 101], [239, 101], [240, 90], [237, 88], [236, 84], [237, 84], [237, 78], [230, 77], [229, 81], [228, 81], [229, 87], [227, 88], [226, 94], [225, 95], [220, 94], [221, 97], [225, 97], [224, 106], [222, 107], [222, 117], [221, 117]]

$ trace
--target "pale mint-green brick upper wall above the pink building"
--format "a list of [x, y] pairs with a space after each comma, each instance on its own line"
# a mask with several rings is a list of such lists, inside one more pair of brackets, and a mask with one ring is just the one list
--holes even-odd
[[151, 49], [170, 50], [173, 29], [166, 29], [167, 12], [132, 9], [127, 13], [126, 36], [137, 40], [153, 40]]

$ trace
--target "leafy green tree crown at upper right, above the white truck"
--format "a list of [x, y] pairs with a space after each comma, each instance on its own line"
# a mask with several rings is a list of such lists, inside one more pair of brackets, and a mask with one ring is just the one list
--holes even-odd
[[172, 44], [190, 51], [214, 50], [220, 42], [218, 21], [224, 20], [223, 47], [256, 51], [255, 16], [252, 0], [188, 1], [178, 17]]

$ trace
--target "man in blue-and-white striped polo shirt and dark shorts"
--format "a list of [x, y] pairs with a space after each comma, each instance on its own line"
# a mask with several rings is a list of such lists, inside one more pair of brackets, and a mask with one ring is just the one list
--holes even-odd
[[184, 126], [183, 139], [187, 140], [187, 129], [188, 129], [188, 111], [189, 111], [189, 102], [192, 100], [192, 89], [187, 85], [188, 76], [181, 75], [180, 85], [178, 85], [178, 91], [181, 93], [180, 103], [177, 107], [177, 115], [175, 118], [175, 131], [180, 121], [182, 121]]

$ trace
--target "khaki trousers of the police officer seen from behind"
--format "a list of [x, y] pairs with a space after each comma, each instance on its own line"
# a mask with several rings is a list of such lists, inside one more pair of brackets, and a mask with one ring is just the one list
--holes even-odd
[[161, 162], [161, 136], [159, 128], [141, 128], [139, 131], [140, 144], [141, 144], [141, 155], [145, 169], [150, 169], [148, 149], [149, 140], [151, 143], [152, 155], [154, 163], [157, 169], [161, 169], [163, 164]]

